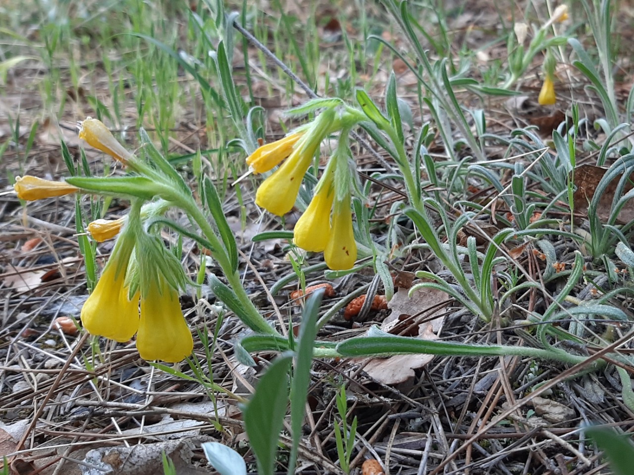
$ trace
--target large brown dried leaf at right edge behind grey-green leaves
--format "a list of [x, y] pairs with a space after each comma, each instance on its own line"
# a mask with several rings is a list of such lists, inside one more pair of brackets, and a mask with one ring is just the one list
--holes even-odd
[[[574, 168], [574, 184], [577, 189], [574, 192], [574, 210], [580, 213], [588, 213], [588, 204], [597, 191], [598, 182], [604, 177], [607, 168], [596, 167], [595, 165], [580, 165]], [[614, 178], [605, 189], [605, 192], [600, 196], [597, 206], [598, 219], [607, 221], [610, 217], [610, 210], [612, 208], [612, 198], [616, 192], [621, 177]], [[631, 177], [630, 177], [631, 181]], [[630, 183], [625, 185], [624, 193], [630, 191], [632, 185]], [[626, 224], [634, 219], [634, 201], [628, 201], [623, 206], [621, 212], [616, 219], [618, 224]]]

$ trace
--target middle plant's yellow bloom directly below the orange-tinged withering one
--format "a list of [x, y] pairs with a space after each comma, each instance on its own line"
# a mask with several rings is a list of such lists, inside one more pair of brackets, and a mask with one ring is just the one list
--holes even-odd
[[281, 167], [257, 188], [257, 206], [278, 216], [283, 216], [292, 210], [299, 186], [302, 184], [302, 178], [311, 165], [314, 151], [318, 145], [309, 146], [303, 152], [302, 147], [296, 148], [288, 160], [282, 163]]

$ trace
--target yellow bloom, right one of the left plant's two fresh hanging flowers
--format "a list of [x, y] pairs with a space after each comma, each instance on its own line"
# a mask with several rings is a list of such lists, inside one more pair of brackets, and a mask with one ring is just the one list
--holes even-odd
[[141, 298], [141, 322], [136, 348], [144, 360], [176, 363], [193, 350], [191, 331], [185, 322], [178, 293], [159, 274]]

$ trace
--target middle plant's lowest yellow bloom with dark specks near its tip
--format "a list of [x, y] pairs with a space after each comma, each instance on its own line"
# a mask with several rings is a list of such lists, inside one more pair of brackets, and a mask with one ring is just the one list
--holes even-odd
[[332, 232], [323, 252], [324, 260], [332, 270], [351, 269], [356, 260], [356, 242], [354, 241], [353, 214], [350, 209], [350, 197], [335, 202], [332, 215]]

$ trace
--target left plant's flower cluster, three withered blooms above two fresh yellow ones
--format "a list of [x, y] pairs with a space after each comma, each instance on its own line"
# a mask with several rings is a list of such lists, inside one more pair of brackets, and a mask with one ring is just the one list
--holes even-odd
[[[99, 120], [87, 118], [81, 122], [79, 136], [125, 165], [144, 166]], [[17, 177], [14, 189], [23, 200], [81, 191], [81, 187], [68, 182], [30, 176]], [[143, 212], [143, 200], [133, 198], [131, 203], [127, 217], [95, 220], [87, 227], [98, 242], [117, 234], [119, 238], [93, 293], [81, 309], [82, 324], [91, 334], [119, 342], [129, 341], [136, 334], [136, 347], [142, 358], [178, 362], [193, 349], [178, 293], [186, 285], [186, 276], [178, 259], [148, 234], [143, 222], [148, 216], [163, 213], [170, 203], [163, 200], [148, 203]]]

